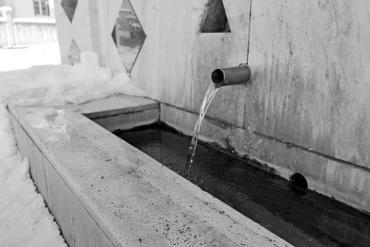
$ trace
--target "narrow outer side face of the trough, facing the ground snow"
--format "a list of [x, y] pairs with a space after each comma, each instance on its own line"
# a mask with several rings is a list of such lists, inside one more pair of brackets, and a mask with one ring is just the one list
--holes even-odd
[[12, 115], [11, 121], [18, 149], [30, 160], [32, 179], [54, 215], [68, 246], [113, 247], [99, 224]]

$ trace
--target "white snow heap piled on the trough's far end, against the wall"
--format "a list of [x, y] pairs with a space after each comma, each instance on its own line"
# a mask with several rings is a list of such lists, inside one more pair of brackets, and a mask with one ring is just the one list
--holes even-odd
[[[0, 89], [5, 101], [22, 106], [80, 104], [110, 95], [145, 96], [130, 83], [127, 73], [112, 75], [99, 67], [94, 52], [82, 52], [81, 63], [74, 66], [34, 66], [0, 73]], [[1, 95], [0, 95], [1, 97]]]

